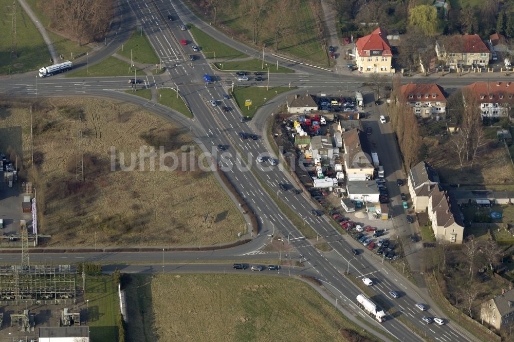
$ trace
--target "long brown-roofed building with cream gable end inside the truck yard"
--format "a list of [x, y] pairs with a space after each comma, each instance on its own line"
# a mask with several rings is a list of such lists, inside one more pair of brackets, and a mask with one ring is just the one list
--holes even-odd
[[344, 171], [346, 176], [351, 174], [366, 174], [373, 177], [375, 168], [371, 162], [368, 139], [366, 139], [364, 132], [354, 128], [343, 132], [342, 136]]

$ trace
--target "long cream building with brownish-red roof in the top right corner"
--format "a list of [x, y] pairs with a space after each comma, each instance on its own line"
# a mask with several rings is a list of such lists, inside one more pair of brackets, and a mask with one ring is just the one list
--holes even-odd
[[[447, 46], [445, 46], [445, 44]], [[445, 42], [435, 42], [437, 59], [452, 69], [464, 66], [489, 65], [490, 51], [478, 34], [454, 35]]]

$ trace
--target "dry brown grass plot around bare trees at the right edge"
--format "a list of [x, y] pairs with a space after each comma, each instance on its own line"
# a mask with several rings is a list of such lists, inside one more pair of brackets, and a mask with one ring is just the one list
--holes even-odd
[[488, 185], [510, 183], [514, 169], [509, 154], [497, 140], [488, 140], [482, 153], [476, 157], [473, 169], [463, 168], [450, 148], [450, 141], [424, 138], [429, 146], [427, 162], [437, 170], [443, 183], [462, 185]]

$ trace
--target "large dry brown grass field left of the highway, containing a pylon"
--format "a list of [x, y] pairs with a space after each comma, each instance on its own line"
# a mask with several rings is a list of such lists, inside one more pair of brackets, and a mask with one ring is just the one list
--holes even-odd
[[[170, 151], [193, 145], [163, 119], [98, 99], [45, 100], [40, 108], [33, 113], [35, 180], [40, 232], [52, 236], [49, 245], [93, 245], [95, 232], [97, 246], [216, 244], [235, 240], [246, 225], [210, 172], [150, 172], [148, 161], [143, 171], [111, 172], [111, 146], [127, 163], [146, 145], [144, 135]], [[79, 129], [84, 183], [75, 177]], [[23, 154], [31, 180], [26, 108], [0, 109], [0, 150], [10, 145]]]

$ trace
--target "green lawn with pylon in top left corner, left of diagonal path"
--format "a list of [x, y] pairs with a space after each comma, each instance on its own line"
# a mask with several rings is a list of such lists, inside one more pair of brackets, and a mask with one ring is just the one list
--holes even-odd
[[12, 0], [0, 0], [2, 25], [0, 25], [0, 74], [36, 71], [51, 65], [50, 54], [43, 37], [23, 11], [16, 6], [16, 42], [17, 58], [11, 58]]

